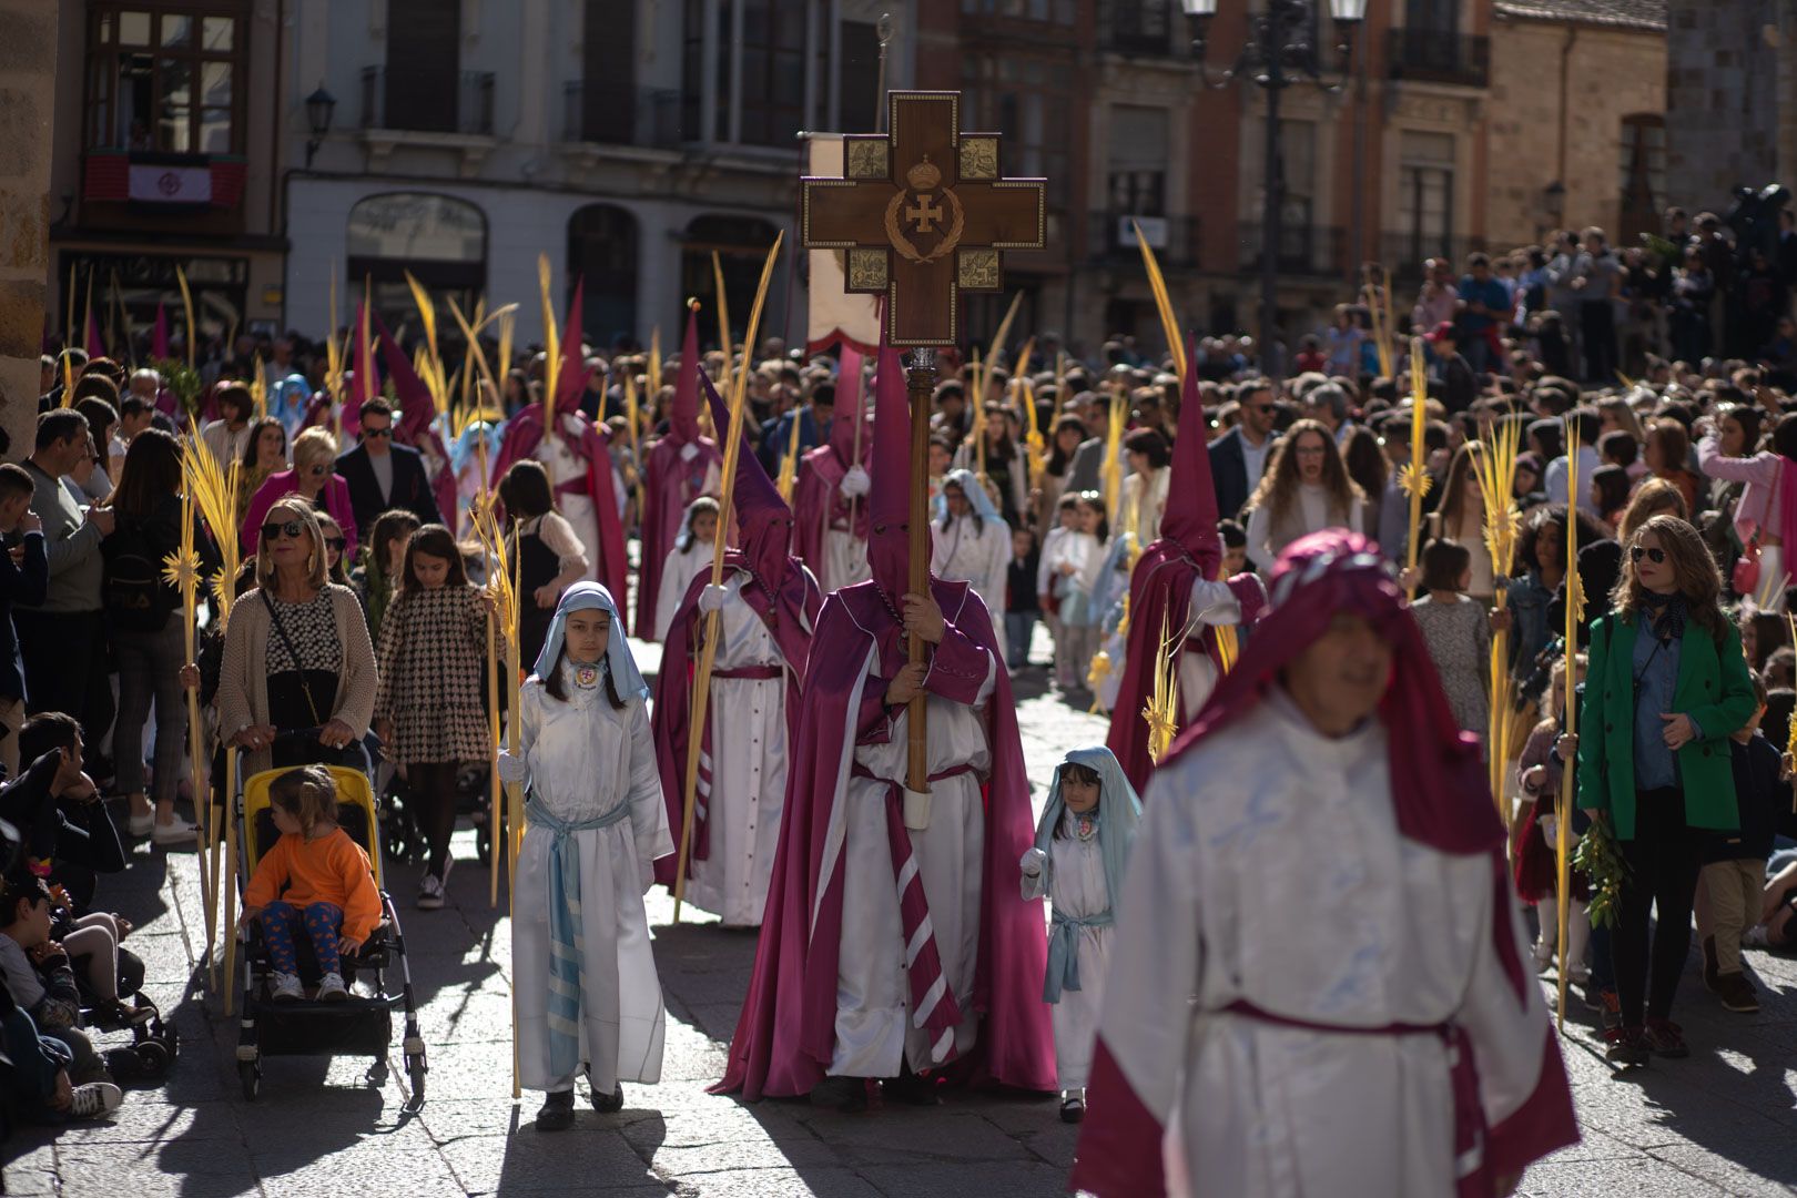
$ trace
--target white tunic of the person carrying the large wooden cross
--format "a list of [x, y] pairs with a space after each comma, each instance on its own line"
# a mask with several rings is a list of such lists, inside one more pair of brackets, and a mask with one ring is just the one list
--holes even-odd
[[[866, 674], [863, 681], [879, 684]], [[992, 697], [996, 681], [997, 663], [988, 654], [978, 706], [929, 697], [929, 772], [972, 765], [978, 774], [956, 774], [931, 783], [929, 828], [911, 832], [942, 973], [961, 1008], [963, 1018], [954, 1029], [956, 1056], [974, 1047], [979, 1031], [972, 1011], [987, 835], [979, 776], [992, 769], [979, 708]], [[854, 760], [877, 778], [904, 781], [909, 726], [909, 713], [900, 711], [886, 744], [857, 745]], [[848, 735], [854, 736], [854, 713]], [[904, 921], [898, 916], [898, 887], [886, 839], [886, 794], [888, 788], [881, 783], [848, 778], [836, 803], [846, 824], [841, 864], [843, 941], [836, 963], [836, 1053], [830, 1060], [830, 1074], [839, 1078], [897, 1078], [906, 1061], [913, 1072], [936, 1065], [929, 1054], [929, 1035], [911, 1024]]]

